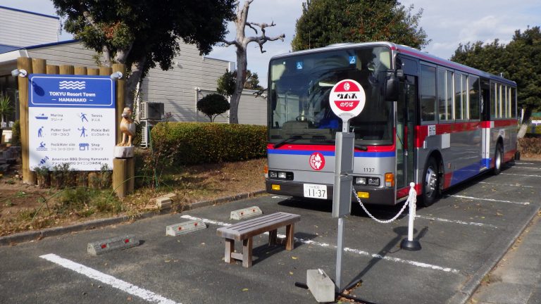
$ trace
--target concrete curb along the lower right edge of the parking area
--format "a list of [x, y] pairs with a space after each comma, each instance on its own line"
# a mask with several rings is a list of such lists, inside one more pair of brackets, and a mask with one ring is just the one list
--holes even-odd
[[530, 216], [528, 217], [528, 221], [526, 221], [521, 229], [518, 229], [516, 234], [512, 234], [511, 237], [507, 239], [499, 239], [495, 243], [492, 243], [492, 245], [487, 248], [487, 251], [490, 251], [491, 248], [501, 248], [499, 251], [495, 251], [490, 255], [490, 258], [487, 258], [487, 260], [481, 265], [478, 272], [475, 272], [472, 274], [472, 276], [464, 283], [462, 288], [457, 291], [452, 298], [450, 298], [447, 301], [447, 304], [465, 304], [468, 302], [469, 298], [473, 295], [475, 290], [478, 289], [479, 285], [481, 284], [481, 281], [483, 278], [490, 273], [492, 268], [494, 268], [499, 260], [502, 260], [504, 255], [509, 251], [509, 248], [513, 246], [516, 239], [518, 239], [518, 236], [520, 236], [524, 230], [528, 227], [530, 222], [532, 222], [533, 218], [541, 208], [534, 208]]

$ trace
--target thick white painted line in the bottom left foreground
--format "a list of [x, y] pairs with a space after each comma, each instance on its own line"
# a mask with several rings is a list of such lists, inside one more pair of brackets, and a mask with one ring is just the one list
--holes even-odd
[[121, 291], [124, 291], [126, 293], [130, 293], [130, 295], [132, 296], [137, 296], [151, 303], [177, 304], [175, 301], [169, 300], [168, 298], [164, 298], [163, 296], [157, 295], [156, 293], [153, 293], [152, 291], [148, 291], [147, 289], [142, 289], [140, 287], [137, 287], [133, 284], [128, 283], [127, 281], [117, 279], [116, 277], [112, 277], [108, 274], [104, 274], [103, 272], [99, 272], [90, 267], [86, 267], [85, 265], [81, 265], [77, 262], [73, 262], [72, 260], [61, 258], [56, 254], [49, 253], [46, 255], [40, 255], [39, 258], [48, 260], [49, 262], [54, 262], [57, 265], [60, 265], [64, 268], [68, 268], [68, 270], [73, 270], [74, 272], [83, 274], [89, 277], [90, 279], [101, 281], [101, 283], [108, 284], [109, 286], [112, 286], [116, 289], [120, 289]]

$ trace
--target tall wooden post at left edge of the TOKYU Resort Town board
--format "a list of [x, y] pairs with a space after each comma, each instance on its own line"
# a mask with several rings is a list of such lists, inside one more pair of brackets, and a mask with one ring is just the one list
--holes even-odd
[[[24, 69], [28, 75], [32, 73], [31, 58], [17, 58], [17, 68]], [[19, 121], [20, 121], [20, 148], [23, 169], [23, 182], [26, 184], [35, 184], [35, 175], [30, 171], [30, 158], [28, 155], [28, 78], [18, 77], [19, 89]]]

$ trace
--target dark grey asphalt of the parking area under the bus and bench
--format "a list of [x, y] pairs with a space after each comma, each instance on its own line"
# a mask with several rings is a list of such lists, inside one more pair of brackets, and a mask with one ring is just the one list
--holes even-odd
[[[540, 210], [540, 172], [541, 162], [518, 161], [500, 175], [475, 178], [444, 193], [435, 205], [419, 208], [414, 235], [421, 251], [399, 248], [407, 217], [379, 224], [354, 205], [344, 221], [344, 284], [360, 279], [352, 294], [372, 303], [466, 303]], [[238, 222], [229, 219], [232, 210], [252, 205], [263, 214], [301, 215], [295, 248], [268, 246], [268, 236], [261, 235], [254, 237], [253, 267], [226, 264], [216, 229]], [[380, 218], [399, 208], [368, 206]], [[335, 277], [337, 220], [331, 212], [328, 201], [269, 195], [0, 246], [0, 303], [316, 303], [294, 283], [306, 281], [310, 269]], [[207, 228], [166, 236], [168, 224], [196, 218]], [[87, 243], [127, 234], [141, 245], [87, 254]], [[531, 236], [539, 245], [540, 234]], [[540, 266], [535, 254], [517, 263], [535, 272]], [[529, 299], [538, 296], [530, 293]]]

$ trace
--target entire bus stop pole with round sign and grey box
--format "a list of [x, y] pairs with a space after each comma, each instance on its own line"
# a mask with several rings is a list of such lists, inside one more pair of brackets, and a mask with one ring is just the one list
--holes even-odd
[[354, 80], [342, 80], [330, 91], [330, 108], [342, 119], [342, 132], [336, 133], [335, 184], [332, 192], [332, 217], [338, 218], [335, 285], [342, 292], [342, 255], [344, 252], [344, 216], [352, 211], [354, 132], [349, 132], [349, 120], [361, 113], [366, 96], [363, 87]]

